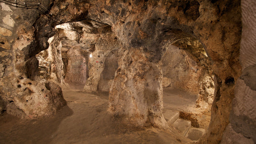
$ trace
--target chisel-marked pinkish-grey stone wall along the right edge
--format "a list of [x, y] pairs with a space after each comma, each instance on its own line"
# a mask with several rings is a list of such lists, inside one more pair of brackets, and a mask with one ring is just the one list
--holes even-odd
[[256, 143], [256, 1], [242, 0], [242, 38], [240, 63], [242, 74], [235, 84], [230, 124], [226, 128], [222, 144]]

